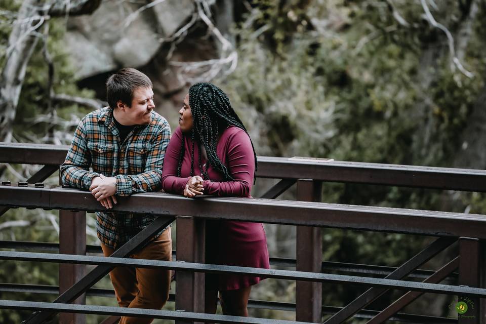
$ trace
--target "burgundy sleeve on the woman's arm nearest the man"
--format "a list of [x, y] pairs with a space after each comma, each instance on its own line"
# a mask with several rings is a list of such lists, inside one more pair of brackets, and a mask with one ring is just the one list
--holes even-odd
[[162, 189], [166, 192], [184, 194], [184, 188], [190, 179], [190, 177], [181, 178], [177, 176], [182, 140], [181, 129], [177, 128], [172, 135], [169, 146], [167, 146], [164, 167], [162, 169]]

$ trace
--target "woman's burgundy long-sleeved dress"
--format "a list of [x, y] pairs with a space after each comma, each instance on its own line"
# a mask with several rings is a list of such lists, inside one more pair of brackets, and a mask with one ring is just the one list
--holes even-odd
[[[183, 194], [191, 174], [192, 140], [185, 136], [181, 177], [177, 177], [177, 166], [182, 133], [177, 128], [172, 135], [164, 158], [162, 187], [166, 192]], [[237, 127], [223, 131], [216, 152], [228, 168], [234, 181], [224, 181], [223, 175], [211, 165], [207, 169], [210, 180], [204, 181], [204, 193], [219, 197], [250, 197], [255, 173], [255, 157], [248, 134]], [[202, 177], [199, 170], [199, 150], [194, 149], [194, 175]], [[202, 159], [201, 164], [206, 160]], [[235, 221], [207, 221], [206, 263], [269, 269], [267, 239], [261, 223]], [[246, 275], [207, 276], [207, 289], [219, 291], [235, 290], [258, 284], [263, 278]]]

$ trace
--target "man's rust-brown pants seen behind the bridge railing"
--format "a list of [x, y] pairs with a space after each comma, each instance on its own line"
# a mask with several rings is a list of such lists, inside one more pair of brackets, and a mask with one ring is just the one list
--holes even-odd
[[[115, 250], [101, 244], [105, 257]], [[172, 261], [171, 228], [131, 255], [134, 259]], [[170, 270], [116, 267], [110, 272], [116, 299], [121, 307], [160, 309], [169, 298]], [[120, 324], [150, 324], [153, 318], [121, 317]]]

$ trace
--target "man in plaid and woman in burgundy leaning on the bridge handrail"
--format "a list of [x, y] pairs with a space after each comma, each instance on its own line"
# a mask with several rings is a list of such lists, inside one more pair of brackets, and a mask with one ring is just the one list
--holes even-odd
[[[106, 97], [109, 107], [86, 115], [74, 133], [61, 166], [64, 184], [90, 190], [107, 210], [117, 203], [116, 196], [161, 188], [186, 197], [250, 196], [257, 163], [253, 143], [218, 87], [190, 87], [172, 138], [167, 120], [153, 111], [152, 83], [142, 72], [124, 68], [111, 75]], [[96, 215], [104, 256], [156, 218], [109, 211]], [[206, 240], [206, 263], [269, 268], [260, 223], [208, 220]], [[161, 230], [132, 257], [172, 260], [171, 229]], [[117, 267], [110, 278], [121, 307], [160, 309], [169, 297], [169, 270]], [[216, 312], [219, 292], [224, 314], [248, 316], [251, 286], [260, 279], [206, 275], [206, 312]], [[141, 317], [120, 320], [150, 322]]]

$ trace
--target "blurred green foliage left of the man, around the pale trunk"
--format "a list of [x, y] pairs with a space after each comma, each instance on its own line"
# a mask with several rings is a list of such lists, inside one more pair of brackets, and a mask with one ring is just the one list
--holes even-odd
[[[5, 63], [5, 51], [8, 46], [8, 37], [12, 30], [12, 24], [15, 20], [15, 14], [20, 7], [20, 1], [7, 1], [2, 5], [5, 10], [0, 15], [0, 66]], [[79, 97], [92, 98], [94, 93], [89, 90], [79, 90], [75, 84], [73, 68], [69, 62], [69, 56], [64, 48], [63, 34], [66, 30], [64, 20], [49, 20], [49, 37], [48, 50], [54, 62], [54, 91]], [[45, 27], [45, 26], [44, 26]], [[42, 27], [42, 28], [44, 28]], [[39, 30], [39, 32], [42, 32]], [[14, 138], [18, 141], [38, 142], [42, 136], [57, 131], [66, 131], [72, 133], [73, 123], [63, 123], [63, 121], [76, 119], [72, 115], [80, 115], [87, 112], [85, 107], [78, 105], [54, 103], [53, 111], [48, 111], [48, 64], [43, 56], [44, 43], [39, 40], [37, 47], [29, 61], [26, 70], [25, 81], [22, 86], [22, 92], [17, 107], [17, 115], [14, 122]], [[39, 115], [46, 114], [50, 118], [35, 121]], [[60, 117], [60, 118], [56, 118]], [[52, 121], [57, 121], [55, 125]], [[66, 143], [68, 139], [59, 136], [61, 142]], [[42, 141], [42, 139], [41, 139]], [[50, 141], [48, 139], [47, 141]], [[22, 168], [15, 167], [16, 172], [22, 173]], [[2, 174], [2, 179], [19, 181], [14, 172], [6, 171]], [[48, 180], [51, 183], [57, 183], [57, 178]], [[29, 221], [32, 222], [27, 227], [12, 227], [0, 230], [2, 239], [24, 240], [34, 242], [58, 242], [59, 237], [48, 218], [50, 213], [54, 213], [54, 219], [59, 223], [58, 213], [30, 211], [24, 209], [10, 210], [2, 216], [2, 222], [8, 221]], [[31, 230], [34, 228], [35, 230]], [[12, 284], [29, 284], [29, 285], [58, 285], [59, 267], [51, 263], [32, 263], [32, 262], [13, 262], [3, 261], [0, 267], [0, 282]], [[34, 300], [50, 302], [54, 295], [49, 294], [26, 294], [2, 292], [0, 298], [10, 300]], [[20, 323], [30, 315], [30, 311], [13, 311], [0, 310], [1, 323]]]

